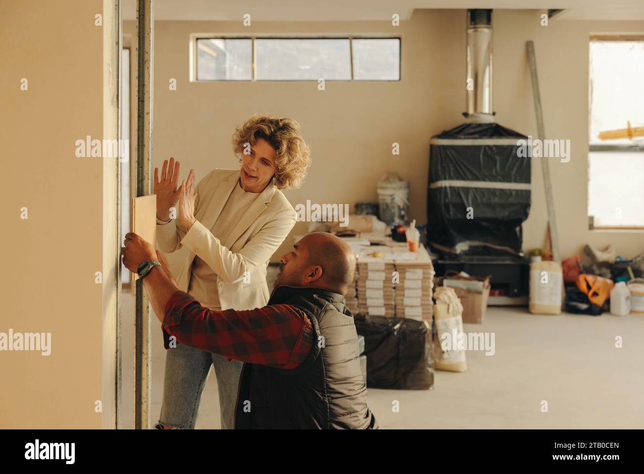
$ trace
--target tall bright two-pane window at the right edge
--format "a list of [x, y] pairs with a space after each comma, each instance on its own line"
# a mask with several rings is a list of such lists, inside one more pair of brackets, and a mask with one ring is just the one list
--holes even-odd
[[644, 228], [644, 37], [591, 39], [589, 81], [592, 227]]

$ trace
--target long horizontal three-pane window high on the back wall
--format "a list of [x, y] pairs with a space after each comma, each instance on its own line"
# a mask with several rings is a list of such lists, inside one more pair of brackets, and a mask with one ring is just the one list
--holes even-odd
[[196, 37], [196, 81], [400, 81], [400, 38]]

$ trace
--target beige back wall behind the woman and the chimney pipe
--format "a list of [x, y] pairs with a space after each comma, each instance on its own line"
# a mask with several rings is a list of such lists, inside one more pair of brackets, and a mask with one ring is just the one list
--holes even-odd
[[[588, 39], [590, 33], [644, 32], [644, 22], [551, 21], [539, 10], [494, 13], [494, 109], [498, 122], [536, 137], [526, 41], [535, 41], [549, 138], [571, 140], [567, 164], [551, 161], [560, 245], [564, 257], [591, 243], [615, 243], [634, 256], [640, 232], [587, 229]], [[175, 156], [197, 176], [213, 167], [236, 167], [230, 137], [252, 113], [298, 120], [312, 148], [313, 165], [292, 204], [376, 200], [375, 183], [397, 171], [411, 184], [411, 216], [426, 222], [429, 138], [462, 123], [465, 108], [465, 12], [417, 10], [395, 28], [388, 23], [262, 23], [158, 21], [155, 31], [155, 163]], [[133, 31], [133, 22], [126, 22]], [[190, 33], [321, 33], [400, 35], [400, 82], [189, 82]], [[168, 81], [178, 81], [170, 91]], [[393, 142], [401, 155], [392, 156]], [[533, 162], [533, 205], [524, 225], [524, 248], [544, 243], [547, 218], [541, 169]], [[298, 223], [293, 234], [305, 231]], [[287, 240], [288, 245], [292, 239]], [[285, 251], [276, 252], [274, 258]], [[178, 257], [175, 257], [178, 260]], [[176, 261], [173, 261], [176, 263]]]

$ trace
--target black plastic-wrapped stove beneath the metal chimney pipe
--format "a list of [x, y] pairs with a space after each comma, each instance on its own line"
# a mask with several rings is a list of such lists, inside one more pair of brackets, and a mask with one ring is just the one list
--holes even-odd
[[531, 158], [518, 156], [521, 139], [527, 137], [495, 123], [463, 124], [431, 138], [427, 213], [433, 249], [521, 252], [521, 224], [531, 202]]

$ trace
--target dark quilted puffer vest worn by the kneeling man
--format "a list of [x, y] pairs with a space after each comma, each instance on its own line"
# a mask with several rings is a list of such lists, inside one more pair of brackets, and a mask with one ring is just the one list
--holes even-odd
[[298, 307], [310, 318], [314, 344], [294, 370], [245, 364], [235, 428], [373, 429], [366, 404], [354, 318], [345, 298], [307, 287], [276, 287], [269, 305]]

